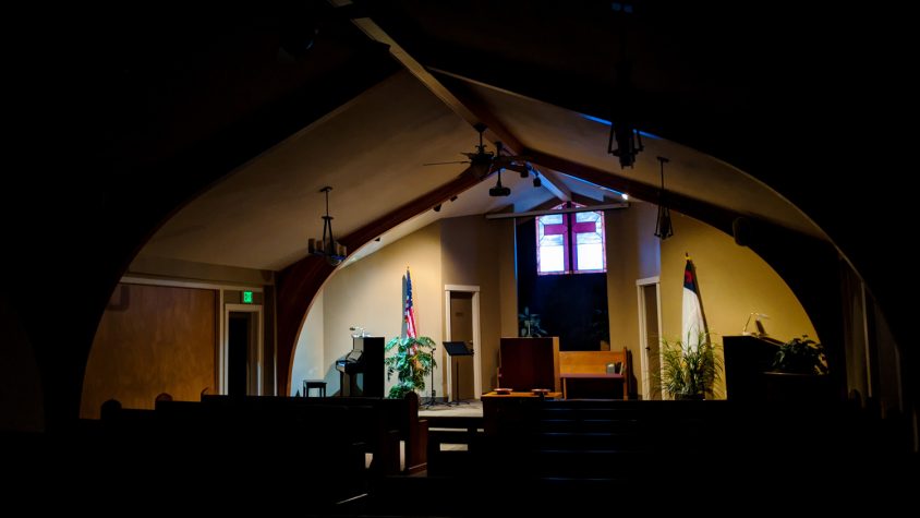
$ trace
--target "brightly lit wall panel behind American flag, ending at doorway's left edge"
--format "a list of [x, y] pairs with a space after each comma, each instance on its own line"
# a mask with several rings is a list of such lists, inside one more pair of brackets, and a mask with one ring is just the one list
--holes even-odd
[[[389, 244], [361, 261], [337, 270], [323, 287], [323, 354], [322, 363], [306, 365], [306, 349], [298, 347], [294, 370], [318, 369], [316, 376], [325, 377], [327, 394], [339, 390], [339, 372], [335, 362], [351, 350], [351, 326], [362, 326], [371, 336], [387, 341], [399, 336], [402, 327], [402, 276], [405, 266], [412, 272], [412, 299], [419, 334], [431, 337], [440, 346], [444, 329], [444, 286], [440, 278], [440, 222], [436, 221], [399, 241]], [[311, 310], [313, 313], [316, 308]], [[315, 316], [307, 316], [307, 321]], [[299, 344], [300, 345], [300, 344]], [[316, 346], [313, 346], [316, 347]], [[444, 394], [443, 360], [438, 347], [438, 369], [435, 388]], [[315, 351], [311, 353], [314, 360]], [[301, 366], [301, 365], [306, 366]], [[298, 378], [293, 378], [299, 382]], [[387, 390], [396, 382], [387, 383]], [[293, 385], [293, 384], [292, 384]], [[428, 394], [425, 388], [425, 396]]]

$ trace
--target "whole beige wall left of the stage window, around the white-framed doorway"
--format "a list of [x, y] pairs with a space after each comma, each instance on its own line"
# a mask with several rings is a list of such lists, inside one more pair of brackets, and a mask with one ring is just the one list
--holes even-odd
[[[510, 219], [448, 218], [336, 272], [323, 287], [322, 298], [314, 301], [301, 332], [294, 351], [292, 393], [307, 377], [325, 378], [328, 394], [339, 389], [339, 373], [334, 365], [351, 350], [350, 326], [363, 326], [387, 339], [399, 335], [401, 279], [407, 265], [412, 270], [419, 332], [438, 344], [435, 388], [439, 397], [447, 395], [445, 369], [450, 366], [441, 347], [444, 286], [480, 287], [480, 361], [483, 390], [489, 390], [496, 383], [498, 338], [505, 327], [509, 336], [517, 336], [513, 239]], [[426, 387], [423, 396], [427, 395]]]

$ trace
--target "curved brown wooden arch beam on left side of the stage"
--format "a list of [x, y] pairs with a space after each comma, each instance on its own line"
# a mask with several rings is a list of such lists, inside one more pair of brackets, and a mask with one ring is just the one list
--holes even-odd
[[[460, 194], [482, 181], [470, 169], [444, 185], [390, 210], [370, 224], [341, 238], [339, 242], [355, 251], [372, 239]], [[310, 303], [335, 270], [323, 257], [307, 255], [278, 275], [278, 393], [290, 394], [291, 368], [298, 333], [306, 318]]]

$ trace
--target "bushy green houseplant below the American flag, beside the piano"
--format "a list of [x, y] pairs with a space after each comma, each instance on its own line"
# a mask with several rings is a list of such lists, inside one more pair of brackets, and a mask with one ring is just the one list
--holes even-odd
[[387, 381], [394, 374], [398, 383], [390, 387], [389, 397], [402, 399], [407, 394], [425, 389], [425, 376], [437, 366], [432, 351], [435, 342], [426, 336], [396, 337], [387, 342], [386, 351], [392, 352], [384, 359], [387, 366]]

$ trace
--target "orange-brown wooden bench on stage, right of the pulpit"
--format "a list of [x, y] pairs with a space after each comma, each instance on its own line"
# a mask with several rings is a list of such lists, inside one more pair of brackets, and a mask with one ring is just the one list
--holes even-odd
[[[608, 364], [619, 364], [619, 373], [607, 372]], [[586, 394], [594, 398], [613, 399], [614, 386], [619, 385], [622, 399], [628, 399], [629, 363], [621, 351], [560, 351], [559, 380], [562, 399]], [[606, 397], [605, 397], [606, 396]]]

